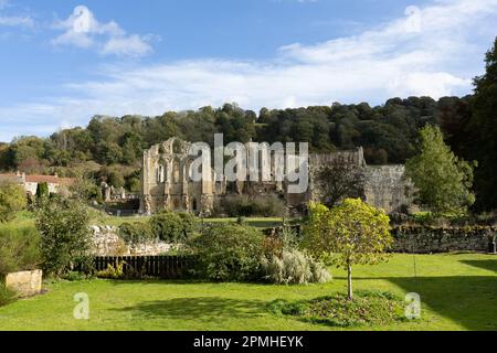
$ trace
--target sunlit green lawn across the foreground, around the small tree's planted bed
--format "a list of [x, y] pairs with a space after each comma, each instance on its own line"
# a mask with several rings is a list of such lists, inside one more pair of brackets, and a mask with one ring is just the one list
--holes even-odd
[[[414, 277], [414, 259], [417, 278]], [[0, 330], [330, 330], [274, 315], [278, 298], [310, 299], [346, 290], [345, 272], [327, 285], [269, 286], [181, 281], [57, 282], [44, 296], [0, 308]], [[355, 269], [356, 289], [419, 292], [422, 320], [373, 330], [497, 330], [497, 257], [395, 255]], [[73, 318], [73, 296], [89, 296], [91, 318]], [[359, 328], [367, 329], [367, 328]]]

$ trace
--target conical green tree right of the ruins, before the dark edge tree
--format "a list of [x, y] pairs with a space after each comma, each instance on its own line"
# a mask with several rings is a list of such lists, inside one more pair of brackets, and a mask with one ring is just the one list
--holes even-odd
[[473, 164], [451, 151], [438, 127], [421, 130], [421, 153], [408, 161], [406, 175], [417, 189], [417, 202], [434, 213], [464, 213], [475, 202]]

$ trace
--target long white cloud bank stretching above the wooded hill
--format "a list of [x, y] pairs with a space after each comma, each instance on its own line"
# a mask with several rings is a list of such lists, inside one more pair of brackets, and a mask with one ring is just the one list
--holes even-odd
[[[271, 61], [207, 58], [107, 68], [97, 81], [65, 85], [64, 97], [0, 108], [0, 120], [46, 120], [44, 126], [55, 130], [60, 121], [86, 124], [95, 114], [159, 115], [225, 101], [258, 109], [470, 93], [495, 38], [497, 0], [437, 0], [408, 14], [355, 36], [286, 45]], [[97, 29], [119, 29], [107, 25]], [[86, 39], [78, 40], [86, 45]], [[94, 45], [92, 35], [87, 41]], [[119, 41], [109, 44], [110, 51], [124, 47]]]

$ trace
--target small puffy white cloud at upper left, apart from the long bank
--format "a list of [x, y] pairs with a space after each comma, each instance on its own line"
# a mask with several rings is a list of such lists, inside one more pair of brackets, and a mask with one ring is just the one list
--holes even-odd
[[65, 32], [55, 38], [54, 45], [74, 45], [81, 49], [95, 47], [103, 55], [144, 56], [152, 52], [150, 36], [127, 34], [114, 21], [101, 23], [94, 13], [78, 6], [65, 20], [55, 24]]

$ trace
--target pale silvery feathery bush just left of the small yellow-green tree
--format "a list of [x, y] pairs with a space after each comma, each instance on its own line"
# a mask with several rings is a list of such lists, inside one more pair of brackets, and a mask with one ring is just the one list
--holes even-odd
[[284, 250], [282, 257], [273, 255], [263, 260], [266, 279], [278, 285], [325, 284], [331, 279], [328, 270], [310, 256], [293, 249]]

